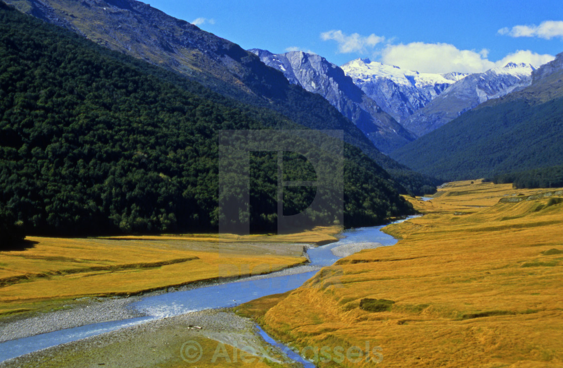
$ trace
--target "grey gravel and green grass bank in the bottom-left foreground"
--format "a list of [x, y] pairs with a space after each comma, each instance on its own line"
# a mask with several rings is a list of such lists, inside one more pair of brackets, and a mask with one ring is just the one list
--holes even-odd
[[[207, 309], [57, 345], [0, 362], [0, 367], [151, 367], [197, 362], [221, 366], [236, 359], [227, 345], [246, 352], [247, 360], [250, 356], [256, 362], [267, 358], [285, 363], [279, 349], [256, 335], [252, 320], [222, 309]], [[238, 354], [240, 359], [242, 353]]]

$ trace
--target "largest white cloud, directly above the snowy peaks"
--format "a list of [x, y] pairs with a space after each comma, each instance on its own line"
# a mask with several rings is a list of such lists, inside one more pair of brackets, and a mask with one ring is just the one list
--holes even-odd
[[459, 50], [448, 43], [423, 43], [388, 45], [382, 51], [383, 64], [426, 73], [480, 73], [495, 66], [486, 59], [488, 50], [480, 52]]

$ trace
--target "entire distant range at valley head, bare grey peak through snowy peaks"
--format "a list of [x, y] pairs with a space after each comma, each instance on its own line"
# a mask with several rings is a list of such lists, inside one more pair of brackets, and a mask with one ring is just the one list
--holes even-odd
[[484, 101], [529, 86], [536, 69], [510, 62], [484, 73], [432, 74], [369, 59], [352, 60], [339, 68], [324, 57], [301, 51], [249, 51], [282, 71], [289, 82], [326, 98], [385, 153]]

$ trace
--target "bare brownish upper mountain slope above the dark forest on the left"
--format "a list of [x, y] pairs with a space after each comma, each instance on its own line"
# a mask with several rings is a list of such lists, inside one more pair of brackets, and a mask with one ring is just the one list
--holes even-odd
[[[135, 0], [10, 0], [16, 8], [62, 25], [92, 41], [181, 73], [221, 95], [284, 115], [310, 129], [341, 129], [345, 142], [418, 193], [434, 181], [379, 152], [350, 120], [323, 97], [290, 84], [237, 44], [200, 30]], [[269, 125], [269, 119], [265, 119]], [[412, 189], [409, 189], [412, 188]]]

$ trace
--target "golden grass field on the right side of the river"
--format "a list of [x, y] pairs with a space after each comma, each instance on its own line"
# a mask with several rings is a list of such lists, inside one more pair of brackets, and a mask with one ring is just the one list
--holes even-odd
[[[386, 227], [396, 245], [239, 312], [298, 348], [329, 347], [309, 349], [319, 366], [563, 366], [563, 192], [554, 191], [449, 183], [431, 201], [409, 199], [426, 215]], [[334, 362], [335, 347], [365, 353], [366, 342], [377, 364], [354, 350]]]

